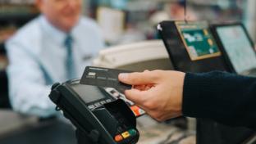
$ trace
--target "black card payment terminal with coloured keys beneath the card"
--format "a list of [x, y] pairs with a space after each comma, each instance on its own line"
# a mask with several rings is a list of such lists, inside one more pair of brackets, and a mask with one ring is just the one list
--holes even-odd
[[83, 85], [75, 79], [55, 83], [49, 97], [75, 125], [78, 144], [134, 144], [139, 140], [130, 106], [104, 88]]

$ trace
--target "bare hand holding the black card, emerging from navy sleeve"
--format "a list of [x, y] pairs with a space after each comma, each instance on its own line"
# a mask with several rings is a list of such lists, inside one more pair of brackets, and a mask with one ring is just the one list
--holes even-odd
[[125, 91], [126, 98], [144, 109], [158, 121], [181, 116], [185, 73], [153, 70], [119, 74], [122, 83], [133, 85]]

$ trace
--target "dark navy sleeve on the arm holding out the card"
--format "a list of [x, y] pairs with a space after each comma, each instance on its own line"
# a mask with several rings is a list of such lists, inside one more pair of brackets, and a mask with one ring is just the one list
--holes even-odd
[[187, 73], [182, 112], [185, 116], [256, 129], [256, 78], [220, 71]]

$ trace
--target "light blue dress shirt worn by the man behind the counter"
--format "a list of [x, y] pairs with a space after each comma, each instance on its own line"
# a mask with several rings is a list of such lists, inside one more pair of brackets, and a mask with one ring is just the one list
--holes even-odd
[[[71, 30], [76, 78], [103, 49], [103, 37], [93, 20], [81, 17]], [[7, 41], [7, 67], [11, 106], [28, 115], [55, 115], [49, 100], [51, 85], [66, 80], [66, 34], [39, 16]]]

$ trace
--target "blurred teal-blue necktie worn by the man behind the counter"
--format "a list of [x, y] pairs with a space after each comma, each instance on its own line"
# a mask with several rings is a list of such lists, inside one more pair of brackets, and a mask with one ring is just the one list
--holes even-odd
[[73, 38], [71, 35], [67, 35], [64, 44], [66, 47], [66, 79], [75, 79], [75, 64], [72, 54]]

